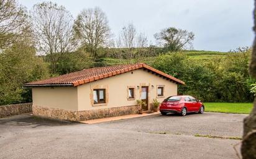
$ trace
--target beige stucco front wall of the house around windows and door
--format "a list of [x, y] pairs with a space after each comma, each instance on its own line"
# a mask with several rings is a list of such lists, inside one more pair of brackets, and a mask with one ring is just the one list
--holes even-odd
[[[164, 97], [157, 98], [158, 101], [163, 101], [165, 98], [177, 94], [177, 84], [170, 80], [163, 79], [142, 69], [132, 72], [133, 74], [126, 72], [78, 86], [78, 111], [136, 105], [136, 100], [140, 99], [142, 85], [149, 86], [149, 103], [152, 103], [153, 99], [157, 98], [157, 85], [165, 85]], [[139, 89], [137, 89], [138, 85], [140, 86]], [[127, 87], [129, 86], [135, 87], [135, 100], [127, 100]], [[91, 93], [93, 88], [107, 89], [108, 99], [106, 104], [92, 105]]]

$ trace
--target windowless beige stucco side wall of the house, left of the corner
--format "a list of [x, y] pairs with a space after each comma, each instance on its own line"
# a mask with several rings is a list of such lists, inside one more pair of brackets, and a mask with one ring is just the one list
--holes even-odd
[[77, 87], [34, 87], [33, 105], [78, 111]]

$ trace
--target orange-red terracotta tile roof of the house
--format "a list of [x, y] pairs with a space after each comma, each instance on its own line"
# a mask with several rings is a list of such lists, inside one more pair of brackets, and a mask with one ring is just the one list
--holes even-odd
[[123, 74], [128, 71], [132, 71], [135, 69], [147, 69], [149, 71], [155, 72], [156, 74], [162, 75], [167, 79], [170, 79], [178, 84], [185, 84], [185, 82], [172, 77], [171, 75], [165, 74], [162, 71], [158, 71], [153, 67], [147, 66], [144, 63], [139, 64], [124, 64], [118, 66], [106, 66], [106, 67], [94, 67], [91, 69], [84, 69], [82, 71], [73, 72], [70, 74], [60, 75], [58, 77], [53, 77], [45, 80], [37, 80], [34, 82], [30, 82], [24, 84], [24, 87], [37, 87], [37, 86], [62, 86], [62, 85], [70, 85], [76, 87], [78, 85], [86, 84], [89, 82], [93, 82], [94, 80], [104, 79], [107, 77], [111, 77], [117, 74]]

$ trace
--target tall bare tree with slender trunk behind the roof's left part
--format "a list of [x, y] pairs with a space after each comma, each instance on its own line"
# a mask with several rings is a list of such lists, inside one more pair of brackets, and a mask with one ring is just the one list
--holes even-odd
[[65, 7], [53, 2], [35, 4], [31, 17], [37, 49], [48, 54], [52, 72], [56, 72], [63, 53], [74, 49], [73, 17]]

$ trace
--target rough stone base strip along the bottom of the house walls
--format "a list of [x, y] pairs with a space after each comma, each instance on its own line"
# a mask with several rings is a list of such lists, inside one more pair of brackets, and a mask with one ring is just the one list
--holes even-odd
[[115, 108], [85, 111], [68, 111], [57, 108], [33, 106], [32, 110], [35, 116], [42, 116], [43, 118], [61, 119], [67, 121], [85, 121], [89, 119], [136, 114], [139, 111], [139, 106], [120, 106]]

